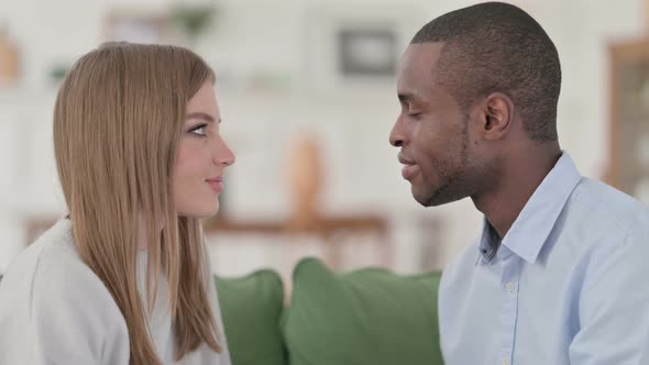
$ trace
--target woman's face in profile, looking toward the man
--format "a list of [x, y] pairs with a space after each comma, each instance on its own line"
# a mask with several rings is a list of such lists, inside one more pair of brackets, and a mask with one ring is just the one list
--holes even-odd
[[223, 170], [234, 155], [219, 134], [221, 114], [215, 87], [206, 82], [187, 102], [187, 115], [178, 142], [174, 193], [180, 217], [207, 218], [219, 211]]

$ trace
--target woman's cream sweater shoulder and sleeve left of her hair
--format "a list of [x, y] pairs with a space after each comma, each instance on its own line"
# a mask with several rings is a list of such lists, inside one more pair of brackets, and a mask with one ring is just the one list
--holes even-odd
[[[47, 358], [75, 353], [79, 362], [73, 363], [102, 358], [106, 349], [119, 358], [129, 354], [121, 311], [77, 254], [68, 220], [57, 222], [11, 264], [0, 281], [0, 328], [12, 333], [0, 335], [0, 350], [9, 358], [23, 358], [28, 347]], [[86, 345], [75, 350], [79, 341]], [[14, 346], [18, 342], [25, 345]]]

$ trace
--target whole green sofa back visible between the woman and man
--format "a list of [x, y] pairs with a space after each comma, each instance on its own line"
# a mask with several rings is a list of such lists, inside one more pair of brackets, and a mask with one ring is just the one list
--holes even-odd
[[216, 285], [233, 365], [442, 365], [439, 279], [380, 268], [338, 274], [305, 258], [288, 306], [273, 270]]

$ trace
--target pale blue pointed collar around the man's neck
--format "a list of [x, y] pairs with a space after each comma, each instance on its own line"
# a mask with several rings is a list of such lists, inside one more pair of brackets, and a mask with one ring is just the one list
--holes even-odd
[[[498, 258], [504, 259], [516, 254], [530, 264], [536, 263], [559, 214], [581, 178], [574, 162], [566, 152], [563, 152], [503, 239], [502, 246], [498, 248]], [[488, 250], [492, 250], [486, 219], [479, 250], [476, 264], [481, 258], [490, 257]]]

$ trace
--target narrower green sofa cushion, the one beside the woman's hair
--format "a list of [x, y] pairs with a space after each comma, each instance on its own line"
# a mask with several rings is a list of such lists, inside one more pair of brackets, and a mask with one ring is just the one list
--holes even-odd
[[216, 277], [216, 285], [232, 364], [285, 365], [279, 275], [265, 269], [244, 277]]

